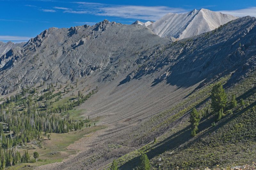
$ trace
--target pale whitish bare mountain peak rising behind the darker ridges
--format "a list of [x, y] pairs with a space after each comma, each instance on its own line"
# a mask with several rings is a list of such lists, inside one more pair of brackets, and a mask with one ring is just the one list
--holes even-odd
[[237, 17], [207, 9], [195, 9], [184, 14], [168, 13], [148, 27], [160, 37], [181, 40], [212, 31], [234, 19]]

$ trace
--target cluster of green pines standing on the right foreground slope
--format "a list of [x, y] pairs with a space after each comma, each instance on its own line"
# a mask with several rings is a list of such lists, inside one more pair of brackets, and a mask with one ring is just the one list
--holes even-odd
[[[230, 102], [228, 103], [227, 100], [227, 94], [223, 88], [223, 86], [220, 83], [217, 83], [213, 86], [211, 91], [211, 108], [212, 108], [212, 114], [215, 115], [215, 121], [220, 121], [221, 118], [224, 116], [224, 112], [229, 109], [232, 109], [237, 106], [236, 96], [235, 94], [232, 95], [232, 98]], [[244, 106], [244, 100], [241, 99], [240, 105]], [[206, 108], [206, 110], [203, 111], [201, 116], [206, 116], [211, 114], [210, 109]], [[196, 133], [198, 132], [198, 125], [200, 122], [200, 113], [197, 112], [196, 108], [194, 107], [192, 111], [190, 112], [189, 116], [189, 122], [192, 126], [191, 136], [196, 136]], [[215, 125], [215, 122], [213, 122]]]

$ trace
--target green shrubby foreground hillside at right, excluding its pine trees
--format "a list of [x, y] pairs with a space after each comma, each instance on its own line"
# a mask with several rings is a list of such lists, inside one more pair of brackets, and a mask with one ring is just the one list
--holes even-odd
[[[225, 87], [230, 102], [232, 94], [236, 95], [237, 106], [231, 108], [228, 104], [223, 118], [216, 122], [214, 113], [204, 115], [206, 108], [210, 108], [209, 98], [213, 82], [192, 93], [180, 105], [183, 109], [172, 115], [177, 106], [161, 112], [161, 115], [171, 115], [163, 119], [153, 128], [158, 131], [161, 126], [168, 123], [180, 122], [171, 130], [157, 138], [157, 142], [150, 142], [140, 149], [130, 152], [117, 159], [120, 169], [135, 168], [142, 152], [147, 153], [150, 159], [151, 169], [204, 169], [227, 168], [236, 165], [252, 164], [256, 160], [256, 73], [247, 75], [246, 78], [236, 84], [232, 84], [232, 78], [226, 76], [217, 82]], [[203, 92], [203, 94], [202, 94]], [[200, 94], [202, 94], [200, 96]], [[198, 98], [199, 97], [199, 98]], [[197, 99], [197, 100], [195, 100]], [[244, 100], [244, 105], [240, 103]], [[191, 108], [196, 107], [201, 114], [199, 133], [191, 137], [191, 126], [188, 115]], [[156, 121], [156, 118], [154, 121]], [[187, 121], [181, 122], [180, 119]], [[152, 120], [152, 119], [151, 119]], [[177, 124], [177, 123], [176, 123]], [[150, 129], [152, 130], [152, 129]], [[152, 138], [154, 136], [152, 135]]]

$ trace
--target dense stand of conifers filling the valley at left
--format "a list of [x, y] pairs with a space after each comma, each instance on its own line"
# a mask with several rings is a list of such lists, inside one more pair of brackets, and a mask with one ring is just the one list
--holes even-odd
[[[24, 151], [24, 154], [20, 155], [18, 148], [32, 141], [37, 141], [36, 143], [41, 146], [44, 139], [42, 134], [50, 140], [49, 133], [76, 131], [82, 129], [86, 122], [91, 122], [89, 117], [79, 121], [71, 120], [69, 114], [64, 116], [63, 113], [81, 105], [94, 92], [83, 95], [79, 91], [76, 99], [57, 107], [52, 107], [49, 100], [61, 96], [61, 92], [53, 94], [53, 85], [48, 85], [44, 92], [43, 95], [34, 97], [36, 88], [32, 88], [32, 90], [23, 88], [20, 94], [7, 97], [0, 105], [0, 169], [18, 163], [35, 162], [39, 156], [37, 152], [34, 152], [35, 159], [31, 159], [28, 151]], [[44, 107], [39, 107], [36, 101], [42, 100], [45, 100]]]

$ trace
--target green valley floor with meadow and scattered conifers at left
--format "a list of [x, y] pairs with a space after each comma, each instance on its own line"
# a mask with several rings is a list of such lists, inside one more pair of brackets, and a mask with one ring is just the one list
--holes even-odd
[[[81, 83], [79, 85], [83, 86]], [[32, 169], [40, 165], [61, 162], [77, 152], [77, 150], [68, 149], [70, 144], [88, 134], [105, 129], [106, 126], [104, 125], [95, 125], [95, 123], [99, 122], [99, 117], [90, 119], [89, 117], [81, 116], [84, 114], [85, 109], [77, 109], [76, 106], [84, 103], [95, 93], [93, 90], [92, 92], [89, 92], [89, 90], [83, 91], [79, 91], [80, 97], [78, 97], [78, 89], [73, 88], [71, 85], [63, 85], [62, 87], [62, 84], [51, 84], [47, 85], [46, 89], [43, 83], [38, 86], [34, 85], [31, 89], [25, 88], [20, 93], [17, 92], [15, 95], [4, 98], [0, 102], [1, 165], [4, 159], [8, 160], [5, 166], [9, 166], [12, 169]], [[76, 102], [79, 104], [75, 104]], [[65, 110], [53, 111], [62, 106], [66, 107]], [[31, 114], [32, 109], [33, 113]], [[26, 118], [27, 115], [28, 118]], [[39, 119], [41, 119], [40, 123], [37, 122]], [[43, 120], [46, 120], [48, 125], [43, 126]], [[54, 121], [49, 123], [51, 120]], [[65, 120], [67, 121], [65, 122]], [[61, 121], [66, 124], [58, 124]], [[58, 125], [54, 126], [54, 123]], [[49, 125], [53, 125], [58, 129], [63, 126], [66, 130], [47, 130]], [[15, 151], [13, 151], [13, 148], [15, 148]], [[2, 151], [4, 151], [3, 155]], [[22, 161], [26, 151], [30, 158]], [[39, 154], [37, 162], [33, 159], [34, 152]], [[22, 155], [21, 159], [17, 156], [18, 154]]]

